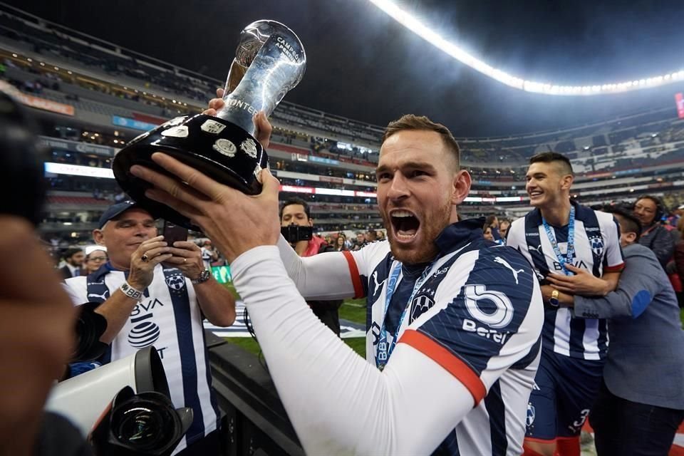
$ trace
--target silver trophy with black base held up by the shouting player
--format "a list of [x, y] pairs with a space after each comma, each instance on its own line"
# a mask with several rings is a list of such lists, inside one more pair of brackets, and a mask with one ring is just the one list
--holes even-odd
[[216, 116], [179, 117], [138, 136], [116, 155], [114, 176], [125, 192], [156, 217], [197, 229], [186, 217], [145, 197], [150, 184], [130, 174], [143, 165], [165, 172], [152, 162], [153, 152], [165, 152], [217, 182], [248, 195], [261, 192], [259, 172], [268, 155], [257, 138], [254, 115], [271, 115], [289, 90], [304, 76], [306, 53], [299, 38], [276, 21], [256, 21], [240, 34], [224, 93], [224, 108]]

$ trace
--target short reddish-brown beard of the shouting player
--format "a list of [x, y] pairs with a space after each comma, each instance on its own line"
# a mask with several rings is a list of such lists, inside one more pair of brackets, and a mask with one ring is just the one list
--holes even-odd
[[385, 229], [388, 230], [388, 233], [392, 233], [392, 236], [389, 236], [388, 240], [390, 242], [390, 250], [395, 259], [404, 264], [427, 263], [435, 259], [439, 253], [439, 249], [437, 249], [437, 245], [435, 244], [435, 239], [437, 239], [440, 233], [451, 224], [451, 209], [452, 203], [450, 200], [447, 200], [442, 206], [442, 209], [438, 210], [435, 214], [430, 214], [430, 217], [425, 217], [419, 228], [423, 240], [418, 246], [413, 246], [411, 248], [403, 248], [401, 245], [395, 244], [393, 224], [391, 220], [385, 218], [385, 213], [383, 212], [382, 216]]

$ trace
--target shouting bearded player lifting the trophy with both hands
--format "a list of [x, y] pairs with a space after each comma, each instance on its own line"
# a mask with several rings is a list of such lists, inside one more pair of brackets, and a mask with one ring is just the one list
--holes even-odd
[[[257, 122], [263, 143], [270, 125], [261, 114]], [[247, 196], [168, 155], [152, 159], [177, 180], [130, 171], [227, 255], [307, 454], [522, 452], [539, 284], [522, 255], [484, 242], [482, 219], [457, 221], [470, 175], [447, 128], [405, 115], [385, 130], [376, 172], [388, 242], [308, 258], [279, 236], [279, 182], [268, 170], [261, 194]], [[367, 296], [368, 362], [318, 321], [300, 291]]]

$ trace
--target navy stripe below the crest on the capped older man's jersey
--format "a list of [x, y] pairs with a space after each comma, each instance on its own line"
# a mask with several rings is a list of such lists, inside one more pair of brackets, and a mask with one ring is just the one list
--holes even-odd
[[[164, 269], [167, 284], [171, 277], [178, 274], [182, 274], [180, 269]], [[185, 280], [185, 277], [183, 279]], [[195, 440], [204, 437], [204, 417], [197, 393], [197, 359], [195, 358], [195, 344], [192, 341], [190, 298], [187, 296], [187, 286], [183, 286], [180, 290], [169, 288], [169, 294], [171, 295], [173, 314], [176, 320], [180, 370], [183, 378], [183, 399], [185, 400], [185, 407], [192, 408], [194, 413], [192, 425], [185, 435], [187, 445], [190, 445]]]

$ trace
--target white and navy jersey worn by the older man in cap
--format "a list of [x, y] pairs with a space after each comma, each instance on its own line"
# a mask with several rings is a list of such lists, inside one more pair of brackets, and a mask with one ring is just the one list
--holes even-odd
[[[105, 301], [124, 281], [123, 271], [105, 264], [90, 276], [67, 279], [65, 289], [73, 304], [81, 305]], [[162, 358], [173, 405], [191, 407], [194, 412], [193, 423], [175, 454], [215, 430], [217, 425], [203, 317], [195, 289], [180, 269], [157, 265], [152, 284], [144, 295], [111, 343], [109, 359], [125, 358], [140, 348], [155, 346]]]

